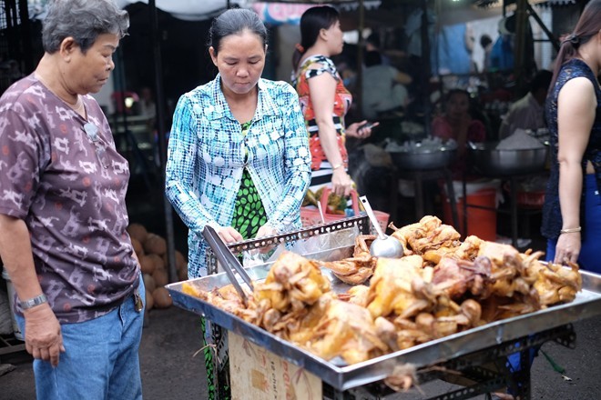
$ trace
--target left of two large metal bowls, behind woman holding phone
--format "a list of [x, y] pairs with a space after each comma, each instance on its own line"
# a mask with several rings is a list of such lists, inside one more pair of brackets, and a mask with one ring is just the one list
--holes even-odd
[[390, 155], [394, 165], [401, 170], [423, 171], [450, 165], [457, 155], [457, 149], [445, 146], [421, 149], [417, 146], [408, 151], [390, 152]]

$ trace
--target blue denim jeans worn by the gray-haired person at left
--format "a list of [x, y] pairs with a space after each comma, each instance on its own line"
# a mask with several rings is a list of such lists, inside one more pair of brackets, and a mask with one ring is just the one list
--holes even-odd
[[[138, 291], [146, 305], [140, 279]], [[130, 295], [117, 309], [90, 321], [62, 324], [65, 353], [56, 367], [34, 360], [38, 400], [134, 400], [142, 398], [138, 347], [144, 312]], [[25, 335], [25, 319], [17, 315]]]

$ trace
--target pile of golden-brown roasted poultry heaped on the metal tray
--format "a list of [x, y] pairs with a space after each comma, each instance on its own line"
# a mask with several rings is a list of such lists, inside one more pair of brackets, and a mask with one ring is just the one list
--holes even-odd
[[[461, 242], [435, 216], [391, 227], [402, 258], [370, 255], [371, 235], [357, 237], [352, 257], [341, 261], [287, 252], [254, 285], [248, 306], [232, 285], [204, 292], [187, 283], [183, 290], [326, 360], [341, 356], [354, 364], [570, 302], [582, 286], [577, 265], [541, 263], [542, 252], [520, 253], [476, 236]], [[321, 267], [351, 284], [348, 292], [331, 291]]]

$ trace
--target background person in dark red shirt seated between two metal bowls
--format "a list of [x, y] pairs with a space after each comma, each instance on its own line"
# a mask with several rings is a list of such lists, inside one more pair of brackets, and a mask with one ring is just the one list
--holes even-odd
[[432, 135], [457, 142], [457, 159], [452, 165], [453, 177], [461, 179], [466, 169], [468, 142], [484, 142], [486, 128], [471, 114], [470, 94], [463, 89], [451, 89], [444, 101], [443, 115], [434, 118]]

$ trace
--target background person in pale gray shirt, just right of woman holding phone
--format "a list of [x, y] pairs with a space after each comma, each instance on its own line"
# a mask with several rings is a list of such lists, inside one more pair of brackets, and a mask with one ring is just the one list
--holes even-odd
[[382, 65], [382, 57], [377, 51], [367, 52], [364, 62], [363, 117], [373, 120], [382, 113], [402, 112], [408, 102], [405, 85], [411, 84], [411, 76], [391, 65]]

